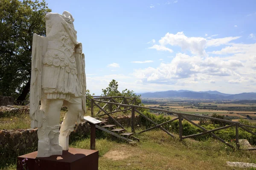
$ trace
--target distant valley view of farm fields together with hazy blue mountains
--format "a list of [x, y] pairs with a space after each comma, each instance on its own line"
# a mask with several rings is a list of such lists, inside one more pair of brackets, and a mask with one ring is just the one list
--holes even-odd
[[[146, 107], [173, 112], [212, 116], [214, 113], [225, 119], [246, 119], [256, 123], [256, 93], [224, 94], [218, 91], [162, 91], [140, 94]], [[161, 114], [161, 112], [154, 112]], [[175, 115], [170, 115], [175, 117]], [[199, 119], [193, 120], [198, 123]]]

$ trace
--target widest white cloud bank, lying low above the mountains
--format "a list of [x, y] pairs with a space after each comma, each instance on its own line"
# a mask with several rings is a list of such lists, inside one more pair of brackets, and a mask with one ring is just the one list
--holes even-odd
[[[137, 69], [134, 76], [143, 82], [151, 83], [178, 83], [178, 82], [198, 82], [206, 79], [205, 76], [236, 76], [236, 69], [243, 67], [241, 61], [230, 59], [224, 60], [219, 57], [198, 57], [178, 53], [170, 63], [161, 63], [159, 67], [148, 67]], [[204, 76], [202, 76], [204, 75]], [[181, 80], [183, 79], [183, 80]], [[187, 81], [185, 81], [187, 80]]]

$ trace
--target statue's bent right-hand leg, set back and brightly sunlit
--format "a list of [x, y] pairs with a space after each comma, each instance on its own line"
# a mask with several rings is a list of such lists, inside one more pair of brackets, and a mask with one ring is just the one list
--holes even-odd
[[68, 111], [63, 119], [60, 129], [59, 142], [63, 150], [68, 150], [69, 135], [74, 130], [75, 123], [78, 119], [78, 115], [82, 110], [81, 103], [67, 104]]

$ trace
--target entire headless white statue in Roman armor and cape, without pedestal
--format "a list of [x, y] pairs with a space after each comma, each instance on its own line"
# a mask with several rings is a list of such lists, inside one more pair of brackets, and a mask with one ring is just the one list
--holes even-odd
[[[38, 127], [38, 155], [61, 155], [86, 111], [85, 64], [72, 15], [48, 13], [46, 37], [33, 35], [30, 85], [31, 127]], [[41, 101], [41, 105], [40, 105]], [[60, 111], [67, 106], [59, 132]]]

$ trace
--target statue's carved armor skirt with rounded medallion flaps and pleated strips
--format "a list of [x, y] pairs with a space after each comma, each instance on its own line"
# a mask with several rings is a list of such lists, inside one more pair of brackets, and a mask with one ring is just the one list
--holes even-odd
[[42, 67], [42, 88], [47, 99], [81, 97], [76, 59], [67, 57], [62, 51], [50, 49], [46, 52]]

